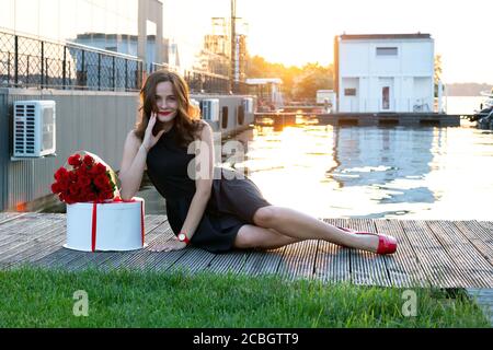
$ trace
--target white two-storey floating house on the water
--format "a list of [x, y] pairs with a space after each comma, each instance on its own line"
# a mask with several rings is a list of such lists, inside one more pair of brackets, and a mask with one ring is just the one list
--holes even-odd
[[334, 39], [339, 112], [433, 112], [429, 34], [340, 35]]

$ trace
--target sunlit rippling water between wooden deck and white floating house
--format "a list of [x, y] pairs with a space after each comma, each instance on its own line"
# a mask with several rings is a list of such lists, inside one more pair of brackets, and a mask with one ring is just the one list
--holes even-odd
[[[239, 135], [222, 161], [273, 205], [318, 218], [491, 220], [493, 133], [475, 128], [290, 127]], [[165, 213], [145, 178], [147, 213]]]

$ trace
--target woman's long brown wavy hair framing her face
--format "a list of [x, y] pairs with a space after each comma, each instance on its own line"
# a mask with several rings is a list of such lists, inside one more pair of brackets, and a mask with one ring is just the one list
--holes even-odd
[[[159, 108], [156, 104], [156, 88], [161, 82], [169, 81], [173, 86], [173, 93], [177, 102], [176, 116], [174, 117], [174, 127], [176, 129], [176, 141], [181, 147], [187, 147], [196, 137], [198, 137], [202, 128], [199, 110], [190, 103], [188, 85], [185, 80], [177, 73], [159, 70], [151, 73], [140, 89], [140, 107], [139, 118], [135, 126], [135, 135], [144, 140], [147, 125], [151, 113], [158, 113]], [[152, 135], [158, 135], [162, 130], [163, 124], [159, 120], [152, 129]]]

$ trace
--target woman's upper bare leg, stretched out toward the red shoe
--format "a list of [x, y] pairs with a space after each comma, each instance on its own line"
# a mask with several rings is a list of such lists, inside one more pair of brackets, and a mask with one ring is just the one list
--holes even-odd
[[377, 252], [378, 237], [345, 232], [317, 218], [290, 208], [268, 206], [260, 208], [254, 217], [255, 225], [272, 229], [298, 240], [324, 240], [347, 247]]

